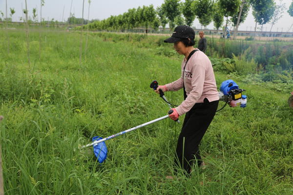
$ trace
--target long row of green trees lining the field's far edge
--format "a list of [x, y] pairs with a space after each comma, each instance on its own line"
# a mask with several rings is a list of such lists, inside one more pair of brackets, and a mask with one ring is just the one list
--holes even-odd
[[[293, 2], [290, 7], [289, 14]], [[175, 25], [186, 24], [191, 26], [197, 18], [204, 27], [213, 21], [217, 30], [223, 25], [224, 21], [226, 23], [224, 29], [227, 29], [228, 23], [231, 22], [237, 31], [239, 24], [245, 21], [250, 8], [252, 8], [255, 19], [256, 30], [257, 24], [262, 27], [264, 24], [271, 22], [273, 26], [282, 17], [285, 4], [282, 3], [282, 0], [279, 4], [276, 4], [274, 0], [185, 0], [184, 2], [164, 0], [164, 3], [156, 9], [153, 5], [128, 9], [124, 14], [94, 21], [84, 28], [126, 30], [145, 27], [147, 33], [149, 27], [157, 29], [162, 26], [165, 28], [167, 24], [170, 29], [173, 29]]]

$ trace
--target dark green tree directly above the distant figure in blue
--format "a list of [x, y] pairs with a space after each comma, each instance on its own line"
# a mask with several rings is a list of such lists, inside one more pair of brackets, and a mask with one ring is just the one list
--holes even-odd
[[234, 16], [239, 10], [241, 1], [240, 0], [219, 0], [220, 9], [223, 11], [226, 17], [226, 26], [224, 29], [224, 37], [226, 36], [226, 29], [228, 25], [228, 17]]

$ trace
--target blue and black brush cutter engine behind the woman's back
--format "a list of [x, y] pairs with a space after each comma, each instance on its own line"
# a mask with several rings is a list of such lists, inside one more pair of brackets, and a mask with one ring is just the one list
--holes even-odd
[[246, 95], [242, 95], [242, 92], [245, 90], [239, 89], [239, 86], [233, 80], [229, 79], [222, 82], [220, 90], [220, 100], [225, 101], [226, 104], [228, 103], [230, 107], [236, 107], [239, 105], [241, 108], [246, 107], [247, 97]]

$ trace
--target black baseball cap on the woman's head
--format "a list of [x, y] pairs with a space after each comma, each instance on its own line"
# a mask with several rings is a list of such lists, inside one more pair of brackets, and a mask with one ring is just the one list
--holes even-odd
[[174, 43], [181, 39], [194, 39], [194, 38], [195, 38], [195, 32], [190, 26], [180, 25], [174, 29], [172, 36], [164, 40], [164, 42]]

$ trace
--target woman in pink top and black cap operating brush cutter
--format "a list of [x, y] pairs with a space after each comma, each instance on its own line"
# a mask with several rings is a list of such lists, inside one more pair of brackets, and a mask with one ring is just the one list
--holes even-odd
[[194, 37], [195, 33], [191, 27], [181, 25], [175, 28], [170, 38], [164, 40], [174, 43], [176, 52], [185, 58], [181, 64], [181, 78], [164, 86], [160, 85], [155, 90], [159, 93], [160, 89], [166, 92], [184, 88], [184, 101], [178, 107], [172, 108], [173, 113], [169, 117], [177, 120], [179, 116], [186, 114], [178, 137], [174, 163], [187, 174], [190, 173], [195, 158], [198, 166], [204, 165], [199, 153], [199, 143], [219, 103], [211, 62], [203, 52], [193, 47]]

